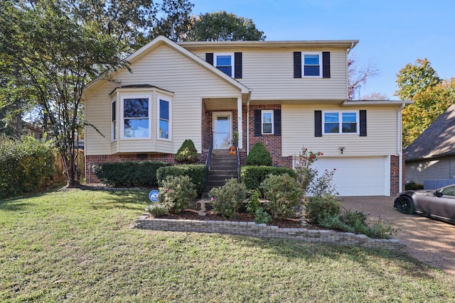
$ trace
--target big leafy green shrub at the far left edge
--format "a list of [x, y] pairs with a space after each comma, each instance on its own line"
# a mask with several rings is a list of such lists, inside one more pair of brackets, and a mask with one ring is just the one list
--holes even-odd
[[52, 181], [53, 146], [23, 136], [0, 141], [0, 199], [35, 192]]

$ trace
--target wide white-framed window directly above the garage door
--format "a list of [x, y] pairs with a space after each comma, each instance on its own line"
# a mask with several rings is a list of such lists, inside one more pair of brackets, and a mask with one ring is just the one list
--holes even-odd
[[358, 133], [358, 112], [327, 111], [323, 114], [324, 133]]

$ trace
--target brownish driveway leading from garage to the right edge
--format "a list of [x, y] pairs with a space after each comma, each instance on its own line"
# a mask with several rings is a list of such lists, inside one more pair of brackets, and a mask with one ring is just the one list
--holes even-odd
[[369, 220], [392, 221], [407, 254], [455, 276], [455, 226], [393, 208], [394, 197], [340, 197], [345, 209], [363, 211]]

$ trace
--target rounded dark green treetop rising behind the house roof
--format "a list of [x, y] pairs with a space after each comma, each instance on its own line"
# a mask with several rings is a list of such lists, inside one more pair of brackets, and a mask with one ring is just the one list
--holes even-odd
[[218, 11], [205, 13], [194, 21], [188, 40], [191, 41], [240, 41], [265, 40], [263, 31], [256, 28], [250, 18], [237, 17], [234, 13]]

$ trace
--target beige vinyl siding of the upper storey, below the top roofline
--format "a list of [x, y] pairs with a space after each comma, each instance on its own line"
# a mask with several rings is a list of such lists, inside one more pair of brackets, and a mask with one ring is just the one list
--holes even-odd
[[[294, 51], [331, 53], [331, 77], [294, 79]], [[237, 79], [252, 89], [252, 99], [346, 99], [347, 62], [346, 50], [340, 49], [273, 49], [226, 50], [242, 52], [242, 79]], [[213, 50], [198, 50], [200, 58]], [[321, 58], [322, 64], [322, 58]]]

